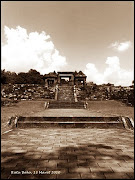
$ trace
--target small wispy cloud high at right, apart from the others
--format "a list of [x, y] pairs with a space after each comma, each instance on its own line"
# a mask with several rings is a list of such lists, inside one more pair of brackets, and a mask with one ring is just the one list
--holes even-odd
[[130, 41], [125, 41], [125, 42], [115, 42], [115, 43], [112, 43], [109, 48], [113, 48], [114, 50], [117, 50], [117, 51], [126, 51], [127, 49], [129, 49], [130, 47], [132, 46], [131, 42]]

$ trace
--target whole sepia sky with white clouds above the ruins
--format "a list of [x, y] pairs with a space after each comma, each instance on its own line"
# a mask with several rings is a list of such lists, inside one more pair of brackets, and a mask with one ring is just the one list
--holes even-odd
[[132, 84], [132, 1], [3, 1], [2, 69], [79, 71], [97, 84]]

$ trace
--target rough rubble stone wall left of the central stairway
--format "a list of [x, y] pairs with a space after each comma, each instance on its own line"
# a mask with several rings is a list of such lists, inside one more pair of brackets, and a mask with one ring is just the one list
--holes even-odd
[[38, 84], [6, 84], [1, 87], [1, 105], [20, 100], [54, 99], [55, 87]]

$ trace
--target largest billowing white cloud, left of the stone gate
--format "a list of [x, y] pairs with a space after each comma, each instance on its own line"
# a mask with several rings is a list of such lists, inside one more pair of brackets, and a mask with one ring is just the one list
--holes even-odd
[[59, 54], [44, 31], [28, 34], [20, 26], [16, 29], [5, 26], [4, 33], [7, 41], [2, 45], [2, 69], [17, 73], [36, 69], [45, 74], [67, 65], [66, 58]]

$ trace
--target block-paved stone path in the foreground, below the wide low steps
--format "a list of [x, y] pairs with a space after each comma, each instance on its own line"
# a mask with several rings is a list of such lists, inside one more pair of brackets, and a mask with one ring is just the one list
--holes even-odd
[[2, 179], [133, 179], [134, 134], [16, 129], [1, 137], [1, 167]]

